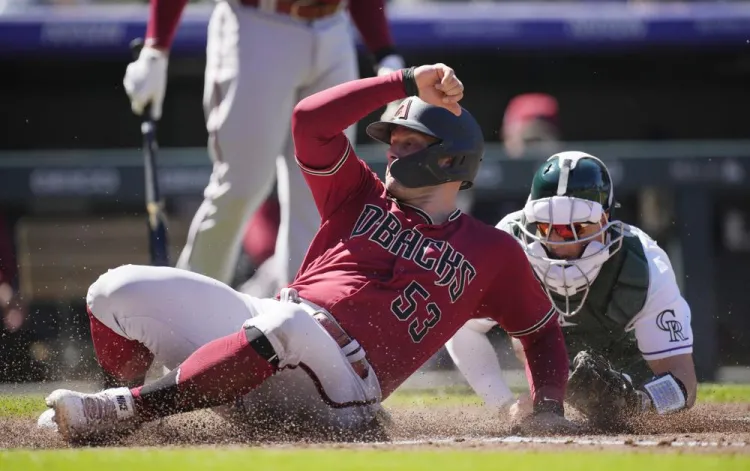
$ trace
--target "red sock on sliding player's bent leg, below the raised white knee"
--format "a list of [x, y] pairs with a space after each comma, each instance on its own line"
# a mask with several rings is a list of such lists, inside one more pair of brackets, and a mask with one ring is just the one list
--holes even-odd
[[123, 384], [142, 383], [154, 355], [140, 342], [115, 333], [86, 309], [91, 325], [91, 340], [102, 369]]

